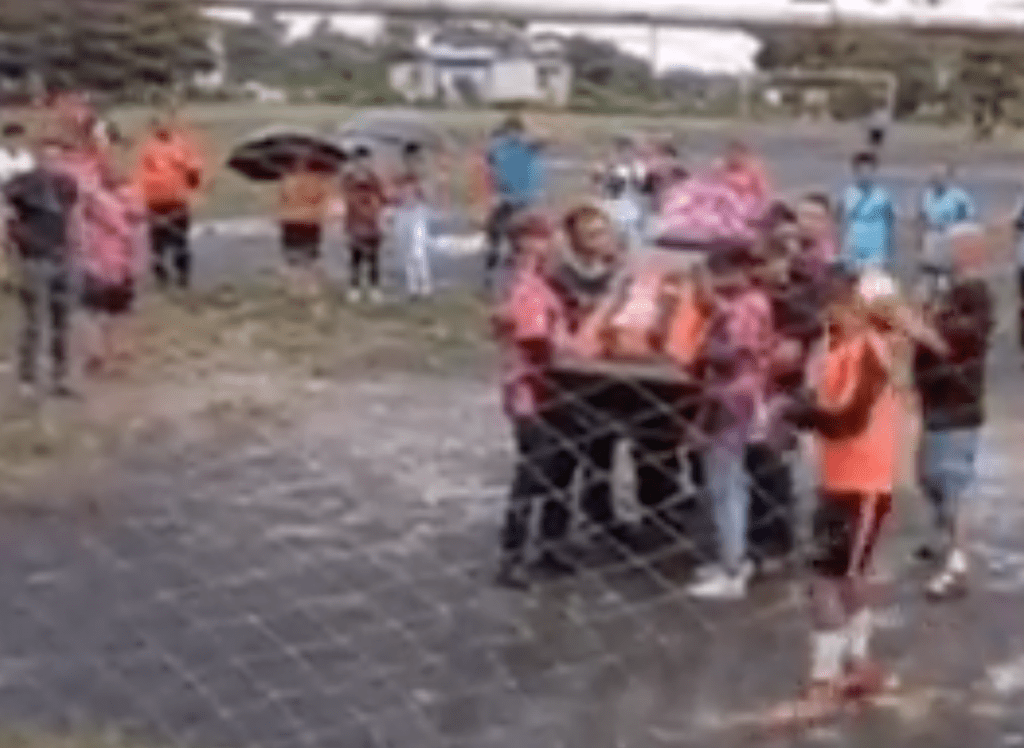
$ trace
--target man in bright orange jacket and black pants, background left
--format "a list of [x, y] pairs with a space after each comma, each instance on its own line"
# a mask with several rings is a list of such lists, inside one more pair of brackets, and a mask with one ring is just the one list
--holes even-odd
[[137, 179], [150, 217], [153, 274], [158, 285], [174, 282], [187, 288], [191, 280], [188, 230], [191, 199], [203, 181], [203, 160], [194, 143], [167, 120], [155, 120], [136, 165]]

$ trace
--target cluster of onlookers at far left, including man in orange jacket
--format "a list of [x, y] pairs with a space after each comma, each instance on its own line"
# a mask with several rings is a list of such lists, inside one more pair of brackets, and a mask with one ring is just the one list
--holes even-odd
[[84, 311], [85, 371], [121, 367], [145, 245], [160, 286], [188, 287], [191, 201], [205, 165], [194, 142], [162, 119], [124, 168], [120, 135], [80, 96], [47, 102], [45, 124], [31, 135], [17, 123], [3, 134], [5, 260], [23, 311], [18, 384], [26, 394], [73, 396], [76, 313]]

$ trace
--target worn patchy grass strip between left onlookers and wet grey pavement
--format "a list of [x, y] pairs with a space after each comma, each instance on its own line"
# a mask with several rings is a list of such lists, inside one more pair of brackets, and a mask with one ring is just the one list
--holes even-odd
[[[9, 298], [0, 300], [8, 332], [12, 310]], [[131, 326], [127, 370], [86, 382], [81, 402], [0, 401], [0, 493], [24, 493], [55, 468], [65, 475], [101, 470], [140, 445], [230, 440], [285, 425], [308, 402], [312, 381], [465, 376], [493, 365], [487, 309], [469, 294], [381, 306], [329, 296], [315, 314], [260, 281], [147, 296]]]

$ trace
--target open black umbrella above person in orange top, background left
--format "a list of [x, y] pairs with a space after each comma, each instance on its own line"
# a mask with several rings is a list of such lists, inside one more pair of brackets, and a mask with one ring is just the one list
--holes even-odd
[[250, 179], [280, 179], [300, 162], [324, 171], [337, 171], [345, 150], [330, 137], [295, 127], [260, 130], [234, 147], [227, 165]]

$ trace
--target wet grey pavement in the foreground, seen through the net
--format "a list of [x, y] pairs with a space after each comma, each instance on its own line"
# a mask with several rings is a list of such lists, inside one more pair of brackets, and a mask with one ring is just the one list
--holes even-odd
[[798, 688], [799, 584], [693, 605], [676, 546], [492, 588], [504, 427], [489, 385], [433, 380], [352, 385], [272, 441], [140, 456], [98, 517], [0, 517], [0, 722], [220, 748], [1019, 745], [1024, 387], [1006, 371], [976, 590], [926, 605], [897, 545], [879, 643], [916, 690], [834, 732], [726, 724]]

